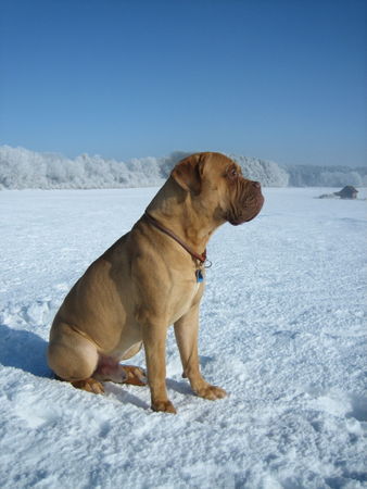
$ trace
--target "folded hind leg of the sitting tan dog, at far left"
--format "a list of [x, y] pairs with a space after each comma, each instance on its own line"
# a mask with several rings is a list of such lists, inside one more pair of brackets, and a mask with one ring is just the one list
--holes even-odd
[[51, 329], [48, 363], [56, 376], [78, 389], [103, 393], [102, 384], [93, 376], [99, 354], [97, 347], [65, 323]]

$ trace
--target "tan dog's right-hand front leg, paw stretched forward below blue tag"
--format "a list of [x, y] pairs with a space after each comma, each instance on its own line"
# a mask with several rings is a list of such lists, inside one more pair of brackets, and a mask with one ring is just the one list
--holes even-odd
[[188, 377], [192, 390], [201, 398], [220, 399], [226, 391], [208, 384], [200, 373], [199, 353], [199, 303], [175, 323], [175, 336], [181, 356], [184, 376]]

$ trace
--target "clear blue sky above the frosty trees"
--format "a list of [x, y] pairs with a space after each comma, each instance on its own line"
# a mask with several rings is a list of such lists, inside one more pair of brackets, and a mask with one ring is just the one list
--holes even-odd
[[0, 0], [0, 143], [366, 164], [364, 0]]

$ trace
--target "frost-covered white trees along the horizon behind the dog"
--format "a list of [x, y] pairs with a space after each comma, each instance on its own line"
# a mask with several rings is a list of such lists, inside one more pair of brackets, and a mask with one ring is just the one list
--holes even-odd
[[[124, 161], [81, 154], [74, 160], [56, 153], [0, 147], [0, 189], [121, 188], [159, 186], [173, 166], [189, 153], [175, 151], [162, 158]], [[367, 168], [293, 165], [229, 154], [243, 174], [265, 187], [340, 187], [367, 185]]]

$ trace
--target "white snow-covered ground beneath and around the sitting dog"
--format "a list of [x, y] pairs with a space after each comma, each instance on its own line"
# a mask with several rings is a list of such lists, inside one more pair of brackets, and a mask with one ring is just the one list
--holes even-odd
[[257, 218], [213, 237], [201, 364], [229, 397], [191, 393], [169, 331], [176, 416], [45, 360], [64, 294], [155, 189], [0, 192], [0, 487], [367, 487], [366, 202], [314, 199], [330, 191], [267, 188]]

